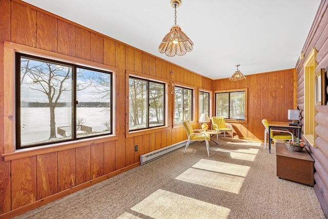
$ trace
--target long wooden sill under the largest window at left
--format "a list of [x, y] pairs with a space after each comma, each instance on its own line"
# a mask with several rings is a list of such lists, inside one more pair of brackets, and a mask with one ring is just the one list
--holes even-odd
[[12, 161], [19, 158], [25, 158], [29, 156], [36, 156], [40, 154], [46, 154], [51, 152], [63, 151], [72, 148], [83, 147], [86, 145], [93, 145], [108, 141], [115, 141], [118, 140], [119, 135], [109, 135], [109, 136], [100, 136], [100, 137], [93, 137], [93, 138], [86, 138], [81, 140], [76, 140], [72, 142], [65, 142], [65, 143], [58, 143], [53, 145], [46, 145], [46, 146], [39, 146], [39, 147], [32, 147], [32, 148], [24, 148], [16, 150], [12, 153], [5, 153], [2, 154], [5, 161]]

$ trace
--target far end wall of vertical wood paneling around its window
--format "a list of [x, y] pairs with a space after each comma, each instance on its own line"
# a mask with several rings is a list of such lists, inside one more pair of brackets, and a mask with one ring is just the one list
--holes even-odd
[[228, 78], [214, 81], [214, 91], [248, 89], [247, 122], [228, 121], [235, 137], [263, 140], [263, 118], [269, 121], [288, 121], [288, 110], [294, 109], [295, 69], [247, 75], [246, 79], [230, 82]]

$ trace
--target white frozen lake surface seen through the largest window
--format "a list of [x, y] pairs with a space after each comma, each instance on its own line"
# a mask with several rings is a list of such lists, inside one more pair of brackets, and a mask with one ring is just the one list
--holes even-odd
[[[46, 107], [22, 107], [21, 114], [21, 141], [22, 146], [48, 141], [50, 136], [50, 109]], [[105, 107], [78, 107], [76, 117], [85, 118], [83, 125], [92, 127], [92, 132], [102, 132], [106, 129], [103, 125], [110, 120]], [[71, 126], [72, 110], [69, 107], [55, 109], [56, 133], [57, 127]], [[57, 134], [58, 139], [63, 136]], [[54, 140], [55, 141], [55, 140]]]

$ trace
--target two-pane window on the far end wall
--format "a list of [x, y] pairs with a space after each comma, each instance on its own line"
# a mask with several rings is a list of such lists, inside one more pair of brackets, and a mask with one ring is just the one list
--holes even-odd
[[245, 120], [245, 90], [215, 93], [215, 115], [232, 120]]

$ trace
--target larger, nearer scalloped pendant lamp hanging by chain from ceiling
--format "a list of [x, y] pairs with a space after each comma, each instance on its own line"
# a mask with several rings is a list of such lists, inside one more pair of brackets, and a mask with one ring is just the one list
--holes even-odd
[[180, 5], [181, 0], [171, 0], [171, 6], [174, 8], [174, 25], [158, 47], [158, 51], [165, 53], [167, 56], [185, 55], [193, 50], [193, 42], [176, 24], [176, 8]]

